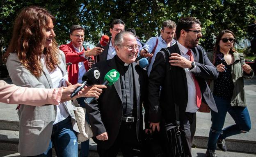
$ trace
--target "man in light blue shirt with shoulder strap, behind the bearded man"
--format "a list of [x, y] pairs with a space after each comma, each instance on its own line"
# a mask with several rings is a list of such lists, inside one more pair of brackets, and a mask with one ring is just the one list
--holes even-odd
[[176, 24], [172, 20], [166, 20], [162, 23], [161, 35], [159, 37], [150, 38], [143, 48], [140, 50], [138, 58], [148, 57], [149, 66], [147, 68], [148, 75], [151, 71], [156, 54], [165, 47], [170, 47], [176, 43], [173, 39]]

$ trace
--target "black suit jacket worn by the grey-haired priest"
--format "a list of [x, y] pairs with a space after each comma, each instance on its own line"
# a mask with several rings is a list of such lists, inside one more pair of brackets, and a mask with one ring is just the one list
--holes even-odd
[[[105, 60], [103, 62], [98, 62], [95, 64], [100, 69], [100, 81], [99, 84], [104, 82], [105, 74], [116, 69], [115, 57], [111, 60]], [[133, 76], [134, 76], [134, 89], [135, 89], [135, 99], [137, 102], [137, 139], [139, 139], [139, 133], [142, 131], [142, 103], [144, 106], [147, 105], [147, 81], [148, 76], [146, 70], [142, 69], [137, 63], [132, 63]], [[101, 145], [101, 148], [109, 148], [119, 133], [119, 128], [121, 126], [121, 117], [123, 113], [123, 102], [121, 95], [121, 84], [120, 80], [115, 82], [112, 86], [107, 86], [103, 90], [103, 93], [98, 98], [98, 103], [92, 103], [87, 105], [87, 111], [89, 113], [89, 119], [91, 124], [91, 129], [94, 133], [94, 141]], [[146, 113], [145, 113], [146, 114]], [[146, 121], [148, 122], [148, 121]], [[104, 132], [108, 133], [109, 139], [107, 141], [99, 141], [95, 137]]]

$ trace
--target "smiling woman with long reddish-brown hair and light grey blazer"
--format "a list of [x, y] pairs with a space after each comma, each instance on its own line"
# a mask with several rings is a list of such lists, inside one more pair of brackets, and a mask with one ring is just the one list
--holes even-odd
[[[53, 15], [39, 7], [27, 7], [19, 13], [4, 57], [14, 84], [59, 88], [67, 83], [65, 55], [55, 41], [54, 20]], [[106, 88], [94, 86], [85, 88], [87, 94], [80, 96], [98, 97], [100, 88]], [[88, 90], [93, 88], [90, 93]], [[76, 107], [67, 100], [59, 105], [20, 106], [18, 153], [21, 156], [52, 157], [54, 145], [58, 157], [78, 157]]]

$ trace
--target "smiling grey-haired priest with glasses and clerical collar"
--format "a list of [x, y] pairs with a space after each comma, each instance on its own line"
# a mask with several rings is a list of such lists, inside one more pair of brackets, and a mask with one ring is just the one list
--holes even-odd
[[100, 157], [115, 157], [119, 149], [124, 157], [140, 157], [142, 103], [147, 105], [148, 77], [146, 70], [135, 63], [139, 46], [133, 33], [118, 33], [114, 45], [117, 55], [95, 66], [101, 71], [99, 84], [104, 82], [105, 74], [111, 69], [120, 73], [119, 80], [86, 108]]

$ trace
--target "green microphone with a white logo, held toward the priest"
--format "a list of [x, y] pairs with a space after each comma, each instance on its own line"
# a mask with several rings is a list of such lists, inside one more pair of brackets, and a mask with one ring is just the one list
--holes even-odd
[[[107, 74], [104, 77], [104, 83], [103, 85], [112, 85], [115, 82], [117, 82], [117, 80], [119, 79], [120, 74], [117, 70], [112, 69], [111, 71], [107, 72]], [[87, 97], [85, 98], [85, 103], [86, 104], [91, 104], [91, 102], [93, 102], [96, 98], [95, 97]]]

